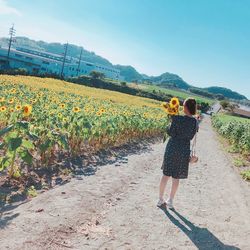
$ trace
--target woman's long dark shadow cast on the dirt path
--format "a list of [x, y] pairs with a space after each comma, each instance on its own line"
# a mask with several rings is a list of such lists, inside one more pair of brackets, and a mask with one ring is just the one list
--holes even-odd
[[176, 219], [166, 208], [166, 206], [161, 207], [162, 211], [167, 215], [170, 221], [176, 225], [180, 230], [185, 233], [188, 238], [195, 244], [195, 246], [200, 250], [240, 250], [240, 248], [235, 246], [228, 246], [221, 242], [214, 234], [212, 234], [207, 228], [201, 228], [195, 226], [192, 222], [187, 220], [181, 214], [179, 214], [175, 209], [171, 211], [177, 215], [177, 217], [185, 223], [183, 225], [178, 219]]

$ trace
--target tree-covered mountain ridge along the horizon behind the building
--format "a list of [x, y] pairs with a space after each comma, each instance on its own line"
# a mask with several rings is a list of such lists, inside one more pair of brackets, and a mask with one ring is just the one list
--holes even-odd
[[[61, 43], [48, 43], [44, 41], [36, 41], [33, 39], [29, 39], [28, 37], [16, 37], [16, 43], [13, 44], [13, 47], [26, 47], [29, 49], [35, 49], [55, 54], [62, 54], [64, 51], [64, 44]], [[0, 38], [0, 46], [7, 46], [8, 45], [8, 38]], [[68, 56], [71, 57], [79, 57], [82, 49], [82, 59], [85, 61], [89, 61], [96, 64], [102, 64], [104, 66], [113, 66], [120, 70], [121, 76], [124, 78], [125, 81], [131, 82], [147, 82], [152, 84], [157, 84], [162, 87], [174, 87], [183, 90], [188, 90], [189, 88], [194, 87], [193, 85], [185, 82], [179, 75], [165, 72], [159, 76], [148, 76], [146, 74], [139, 73], [134, 67], [131, 65], [114, 65], [109, 60], [96, 55], [92, 51], [88, 51], [83, 47], [69, 44], [69, 52]], [[212, 94], [222, 94], [227, 98], [232, 98], [236, 100], [244, 100], [247, 99], [242, 94], [239, 94], [236, 91], [232, 91], [228, 88], [211, 86], [208, 88], [199, 88], [205, 91], [208, 91]]]

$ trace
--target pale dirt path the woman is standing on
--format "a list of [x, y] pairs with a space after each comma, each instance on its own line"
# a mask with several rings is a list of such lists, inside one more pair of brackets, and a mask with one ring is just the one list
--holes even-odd
[[231, 167], [209, 117], [197, 147], [200, 160], [181, 181], [176, 211], [156, 207], [165, 144], [155, 143], [7, 206], [0, 249], [250, 249], [250, 186]]

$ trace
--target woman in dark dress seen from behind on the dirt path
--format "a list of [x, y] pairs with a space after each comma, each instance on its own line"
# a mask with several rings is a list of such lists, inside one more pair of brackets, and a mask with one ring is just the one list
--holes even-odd
[[[196, 113], [195, 99], [186, 99], [183, 103], [183, 108], [185, 115], [172, 116], [172, 123], [167, 128], [170, 138], [162, 164], [163, 176], [160, 182], [158, 207], [166, 204], [169, 208], [173, 208], [173, 200], [179, 186], [179, 179], [188, 177], [190, 141], [198, 130], [197, 121], [193, 117]], [[172, 177], [172, 188], [170, 196], [167, 202], [165, 202], [163, 195], [170, 177]]]

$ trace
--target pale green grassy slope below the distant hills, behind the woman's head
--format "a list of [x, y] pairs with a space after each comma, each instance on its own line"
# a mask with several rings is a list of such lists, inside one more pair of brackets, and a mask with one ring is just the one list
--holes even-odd
[[161, 91], [163, 93], [166, 93], [166, 94], [169, 94], [172, 96], [176, 96], [180, 99], [194, 97], [198, 102], [207, 102], [209, 105], [212, 105], [215, 102], [215, 100], [213, 100], [213, 99], [199, 96], [199, 95], [196, 95], [194, 93], [184, 91], [184, 90], [167, 89], [167, 88], [162, 88], [162, 87], [153, 86], [153, 85], [146, 85], [146, 84], [142, 84], [141, 88], [143, 88], [144, 90], [148, 90], [149, 92]]

